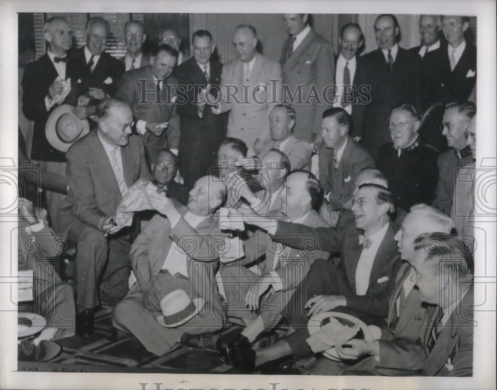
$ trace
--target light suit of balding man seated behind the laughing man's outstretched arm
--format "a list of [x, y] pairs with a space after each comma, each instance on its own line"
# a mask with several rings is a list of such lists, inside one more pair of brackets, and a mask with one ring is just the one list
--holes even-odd
[[[282, 218], [288, 221], [288, 218]], [[328, 227], [315, 210], [311, 210], [302, 223], [311, 228]], [[240, 264], [224, 266], [220, 269], [229, 316], [255, 319], [260, 314], [264, 327], [271, 328], [281, 319], [283, 309], [299, 283], [304, 279], [314, 260], [326, 259], [330, 255], [323, 250], [306, 254], [305, 250], [287, 246], [278, 248], [277, 242], [278, 236], [271, 236], [259, 230], [257, 234], [244, 242], [245, 259]], [[276, 279], [281, 280], [282, 285], [280, 290], [263, 296], [259, 313], [255, 313], [246, 308], [245, 296], [248, 289], [257, 282], [259, 277], [241, 264], [255, 261], [263, 255], [265, 255], [265, 261], [261, 278], [274, 279], [275, 275], [271, 274], [273, 272], [278, 275]], [[276, 259], [275, 266], [276, 256], [278, 259]]]

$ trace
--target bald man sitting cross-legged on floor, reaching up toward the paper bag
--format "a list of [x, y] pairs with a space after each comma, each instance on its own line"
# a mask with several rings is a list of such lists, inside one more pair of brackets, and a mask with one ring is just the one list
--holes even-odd
[[[219, 254], [213, 251], [220, 235], [214, 216], [224, 203], [224, 183], [204, 176], [190, 191], [185, 209], [174, 206], [162, 194], [151, 195], [156, 215], [131, 248], [137, 282], [112, 312], [113, 325], [132, 333], [148, 351], [162, 356], [184, 333], [198, 334], [222, 327], [221, 303], [214, 285], [214, 266]], [[184, 326], [164, 327], [161, 300], [182, 289], [207, 302], [202, 311]]]

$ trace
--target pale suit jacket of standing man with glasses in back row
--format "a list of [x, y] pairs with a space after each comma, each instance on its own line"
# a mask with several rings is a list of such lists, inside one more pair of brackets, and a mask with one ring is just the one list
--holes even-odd
[[[244, 141], [248, 149], [253, 147], [255, 141], [269, 140], [269, 113], [275, 104], [279, 103], [281, 95], [281, 67], [273, 61], [259, 53], [255, 55], [255, 62], [250, 79], [245, 81], [244, 63], [238, 59], [232, 60], [223, 66], [221, 72], [221, 91], [223, 99], [220, 103], [221, 112], [230, 111], [228, 119], [228, 137], [239, 138]], [[248, 85], [243, 88], [242, 85]], [[238, 88], [233, 94], [234, 88], [227, 88], [227, 85], [234, 85]], [[267, 86], [267, 92], [253, 92], [256, 99], [263, 101], [258, 104], [252, 98], [254, 87], [259, 85]], [[231, 90], [232, 96], [228, 99]], [[248, 95], [248, 96], [246, 96]], [[240, 103], [238, 103], [238, 101]], [[269, 104], [271, 103], [271, 104]]]

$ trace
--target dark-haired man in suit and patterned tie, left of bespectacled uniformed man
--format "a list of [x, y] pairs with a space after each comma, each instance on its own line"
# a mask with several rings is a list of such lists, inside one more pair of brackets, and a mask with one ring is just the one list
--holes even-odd
[[335, 226], [339, 211], [352, 197], [357, 175], [363, 168], [374, 168], [374, 161], [350, 137], [352, 118], [343, 108], [326, 110], [321, 128], [324, 142], [318, 149], [319, 178], [328, 202], [321, 213], [330, 226]]

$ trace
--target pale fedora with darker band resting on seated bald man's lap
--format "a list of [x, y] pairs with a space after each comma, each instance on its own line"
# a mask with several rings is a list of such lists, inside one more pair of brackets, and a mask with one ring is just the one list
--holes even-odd
[[192, 319], [205, 305], [203, 298], [191, 299], [186, 291], [174, 290], [161, 300], [163, 315], [157, 321], [166, 328], [175, 328]]

